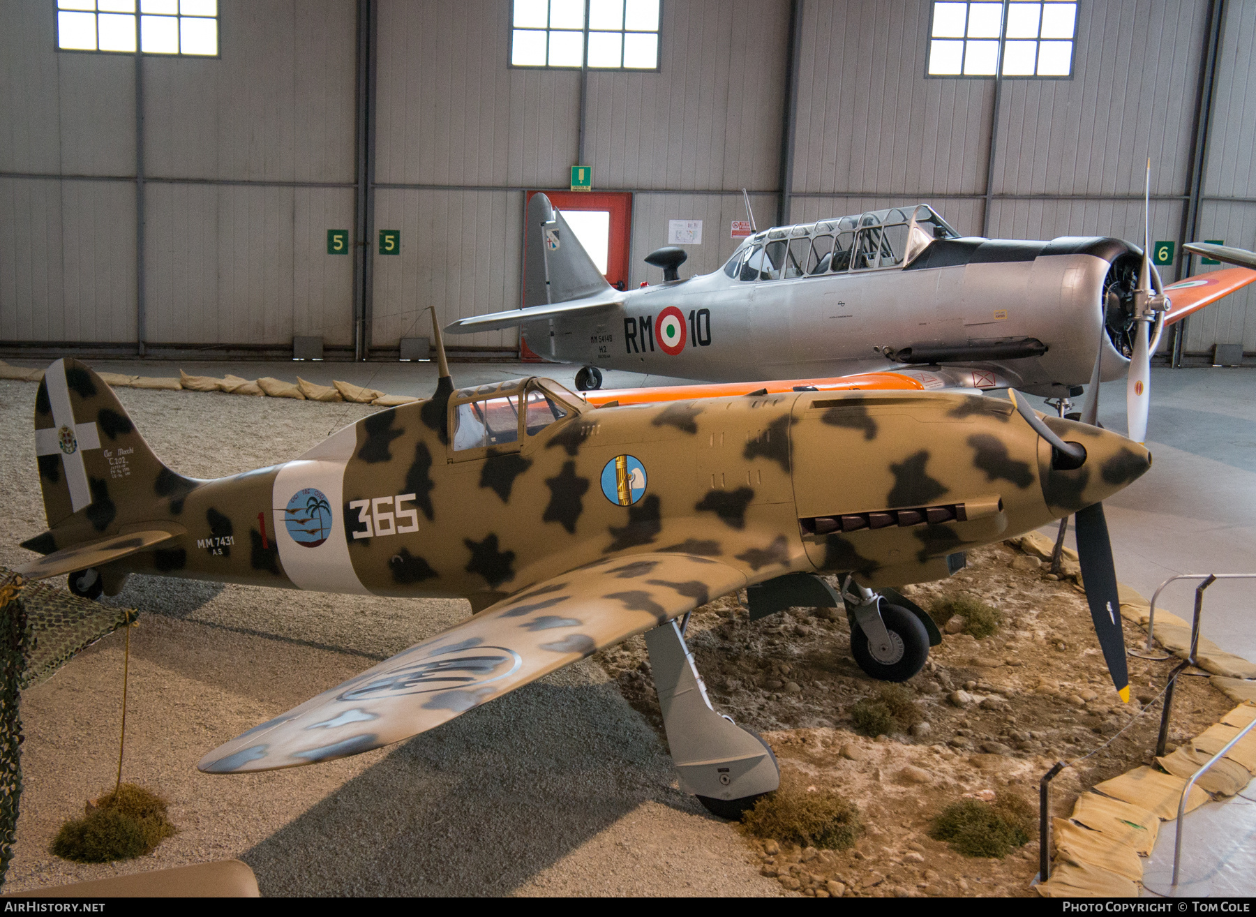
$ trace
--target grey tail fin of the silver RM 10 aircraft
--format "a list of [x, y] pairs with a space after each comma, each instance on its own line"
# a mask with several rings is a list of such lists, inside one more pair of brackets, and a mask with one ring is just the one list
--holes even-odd
[[613, 293], [549, 197], [528, 202], [524, 245], [524, 308]]

